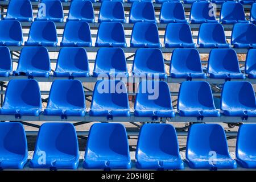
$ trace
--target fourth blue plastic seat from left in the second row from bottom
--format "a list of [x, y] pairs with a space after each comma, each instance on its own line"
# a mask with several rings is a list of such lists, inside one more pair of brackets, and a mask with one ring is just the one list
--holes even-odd
[[175, 117], [167, 82], [152, 80], [140, 82], [134, 104], [134, 115], [152, 117], [153, 120], [158, 117]]

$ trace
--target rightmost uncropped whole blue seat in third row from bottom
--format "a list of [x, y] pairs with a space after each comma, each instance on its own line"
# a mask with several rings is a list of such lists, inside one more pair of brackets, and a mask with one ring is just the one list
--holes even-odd
[[241, 73], [237, 53], [234, 49], [212, 49], [209, 54], [207, 72], [211, 78], [245, 79]]

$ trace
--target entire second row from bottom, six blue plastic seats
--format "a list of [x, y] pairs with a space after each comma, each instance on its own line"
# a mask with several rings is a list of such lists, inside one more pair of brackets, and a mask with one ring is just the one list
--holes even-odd
[[[19, 92], [16, 92], [19, 90]], [[193, 90], [193, 92], [191, 92]], [[26, 94], [25, 94], [26, 93]], [[217, 102], [217, 101], [216, 101]], [[219, 104], [219, 103], [218, 103]], [[36, 115], [42, 113], [40, 89], [36, 80], [11, 80], [6, 89], [2, 115]], [[85, 116], [85, 94], [79, 80], [55, 80], [52, 83], [44, 115]], [[205, 81], [184, 81], [180, 85], [177, 113], [182, 117], [256, 117], [253, 86], [246, 81], [225, 82], [216, 109], [210, 85]], [[97, 81], [94, 86], [90, 116], [130, 117], [130, 107], [124, 82]], [[175, 117], [170, 89], [164, 81], [142, 81], [137, 90], [134, 115], [138, 117]]]

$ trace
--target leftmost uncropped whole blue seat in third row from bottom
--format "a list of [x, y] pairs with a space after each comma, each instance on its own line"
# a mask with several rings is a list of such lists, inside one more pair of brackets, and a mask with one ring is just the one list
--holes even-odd
[[29, 77], [49, 77], [51, 63], [46, 47], [24, 47], [20, 52], [19, 63], [13, 75]]

